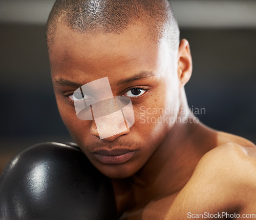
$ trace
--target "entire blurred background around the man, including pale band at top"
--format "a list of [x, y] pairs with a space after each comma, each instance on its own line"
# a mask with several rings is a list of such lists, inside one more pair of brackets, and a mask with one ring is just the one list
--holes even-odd
[[[189, 106], [209, 127], [256, 143], [256, 2], [171, 1], [190, 43]], [[19, 151], [71, 141], [55, 103], [45, 39], [52, 0], [0, 0], [0, 173]]]

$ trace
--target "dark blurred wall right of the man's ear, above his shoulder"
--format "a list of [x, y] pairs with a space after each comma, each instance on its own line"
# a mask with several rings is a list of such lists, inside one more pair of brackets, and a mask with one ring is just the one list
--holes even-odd
[[256, 30], [181, 30], [190, 42], [188, 104], [206, 125], [256, 143]]

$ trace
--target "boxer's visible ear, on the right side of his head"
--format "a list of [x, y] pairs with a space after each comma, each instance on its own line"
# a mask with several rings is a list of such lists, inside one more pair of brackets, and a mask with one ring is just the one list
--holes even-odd
[[178, 78], [180, 88], [182, 88], [190, 79], [192, 74], [192, 57], [190, 54], [189, 43], [183, 39], [180, 41], [178, 52]]

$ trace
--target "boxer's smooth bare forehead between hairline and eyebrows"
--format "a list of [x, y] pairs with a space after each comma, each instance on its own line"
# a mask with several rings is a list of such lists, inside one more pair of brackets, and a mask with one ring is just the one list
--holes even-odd
[[153, 36], [143, 24], [120, 34], [79, 33], [59, 24], [50, 51], [54, 78], [87, 77], [87, 81], [155, 71], [169, 53], [164, 40]]

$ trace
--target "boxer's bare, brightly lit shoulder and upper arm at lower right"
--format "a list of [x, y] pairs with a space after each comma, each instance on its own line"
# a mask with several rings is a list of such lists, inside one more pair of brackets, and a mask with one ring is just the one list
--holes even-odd
[[180, 207], [185, 219], [186, 213], [255, 213], [256, 146], [241, 139], [207, 152], [169, 211], [172, 219]]

